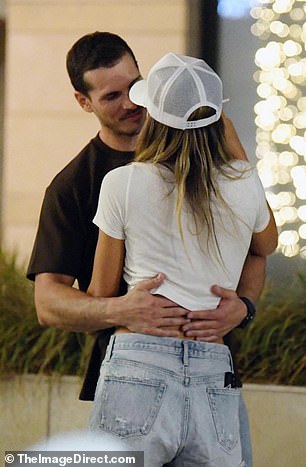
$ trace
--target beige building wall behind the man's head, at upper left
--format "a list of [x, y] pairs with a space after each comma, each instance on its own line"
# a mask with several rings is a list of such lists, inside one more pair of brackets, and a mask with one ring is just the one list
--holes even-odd
[[45, 187], [98, 131], [73, 97], [65, 57], [88, 32], [127, 40], [146, 75], [185, 53], [185, 0], [7, 0], [3, 243], [27, 260]]

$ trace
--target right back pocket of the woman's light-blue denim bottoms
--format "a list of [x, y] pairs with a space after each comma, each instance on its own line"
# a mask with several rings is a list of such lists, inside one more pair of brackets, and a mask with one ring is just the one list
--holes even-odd
[[240, 389], [207, 389], [219, 444], [230, 452], [239, 441]]

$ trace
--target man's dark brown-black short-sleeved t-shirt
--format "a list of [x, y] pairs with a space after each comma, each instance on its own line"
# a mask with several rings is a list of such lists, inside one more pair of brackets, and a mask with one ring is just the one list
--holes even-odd
[[[96, 213], [103, 177], [110, 170], [127, 164], [133, 152], [106, 146], [99, 136], [93, 138], [46, 189], [38, 231], [27, 277], [43, 272], [73, 276], [80, 290], [86, 291], [92, 274], [98, 228], [92, 220]], [[126, 286], [121, 284], [121, 294]], [[93, 347], [80, 399], [93, 400], [101, 361], [113, 333], [103, 330]]]

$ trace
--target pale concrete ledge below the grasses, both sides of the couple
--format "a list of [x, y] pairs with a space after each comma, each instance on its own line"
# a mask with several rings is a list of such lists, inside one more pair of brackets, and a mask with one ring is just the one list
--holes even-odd
[[[74, 376], [0, 379], [0, 451], [22, 450], [55, 433], [87, 427], [91, 402], [81, 402]], [[247, 384], [254, 467], [304, 467], [306, 388]], [[196, 467], [196, 466], [195, 466]]]

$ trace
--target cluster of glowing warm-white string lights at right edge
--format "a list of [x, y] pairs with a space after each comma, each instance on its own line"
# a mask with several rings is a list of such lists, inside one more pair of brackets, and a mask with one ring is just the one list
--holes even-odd
[[279, 228], [278, 250], [306, 259], [305, 0], [259, 0], [255, 54], [258, 172]]

